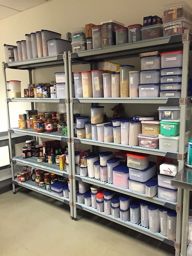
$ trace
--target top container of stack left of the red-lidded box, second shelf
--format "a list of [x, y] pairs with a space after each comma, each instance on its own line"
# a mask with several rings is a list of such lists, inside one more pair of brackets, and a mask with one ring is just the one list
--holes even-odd
[[141, 57], [141, 70], [160, 69], [160, 68], [161, 68], [160, 56], [156, 55], [156, 56]]

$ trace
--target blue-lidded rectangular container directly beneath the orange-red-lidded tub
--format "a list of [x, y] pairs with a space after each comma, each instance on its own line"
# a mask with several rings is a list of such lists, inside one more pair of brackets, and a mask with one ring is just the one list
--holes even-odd
[[149, 166], [143, 170], [129, 168], [130, 180], [146, 182], [156, 174], [156, 163], [149, 162]]

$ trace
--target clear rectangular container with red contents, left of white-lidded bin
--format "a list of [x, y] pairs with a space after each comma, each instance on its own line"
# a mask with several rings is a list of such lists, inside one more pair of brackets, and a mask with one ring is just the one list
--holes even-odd
[[158, 136], [139, 134], [138, 138], [139, 138], [139, 146], [140, 147], [144, 147], [144, 148], [158, 148], [159, 147]]

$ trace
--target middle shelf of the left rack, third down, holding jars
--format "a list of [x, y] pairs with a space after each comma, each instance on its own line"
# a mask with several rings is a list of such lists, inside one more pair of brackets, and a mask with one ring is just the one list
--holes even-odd
[[18, 133], [24, 135], [31, 135], [40, 138], [47, 138], [47, 139], [54, 139], [54, 140], [61, 140], [64, 142], [69, 142], [69, 139], [66, 136], [62, 136], [59, 132], [34, 132], [32, 128], [26, 129], [19, 129], [19, 128], [10, 128], [8, 129], [10, 133]]

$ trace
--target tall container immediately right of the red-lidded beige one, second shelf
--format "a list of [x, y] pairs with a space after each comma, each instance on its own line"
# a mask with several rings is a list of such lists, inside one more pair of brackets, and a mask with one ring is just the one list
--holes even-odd
[[92, 70], [93, 98], [103, 98], [103, 70]]

